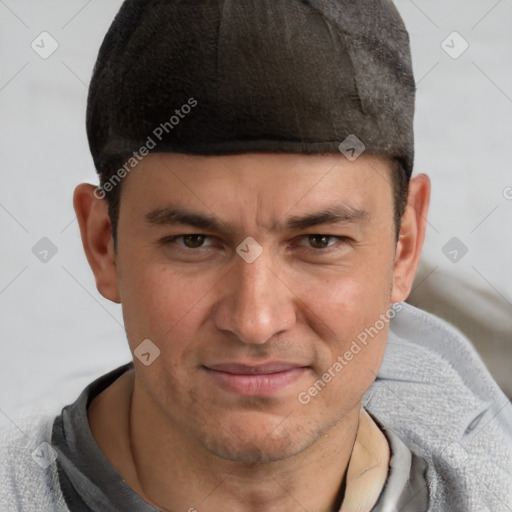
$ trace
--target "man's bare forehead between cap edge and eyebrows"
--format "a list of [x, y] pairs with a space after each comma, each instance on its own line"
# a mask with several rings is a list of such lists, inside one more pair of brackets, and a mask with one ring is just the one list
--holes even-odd
[[392, 207], [389, 161], [343, 155], [244, 153], [188, 155], [154, 153], [146, 156], [123, 182], [123, 202], [131, 207], [180, 204], [204, 211], [285, 212], [318, 210], [340, 203], [349, 209]]

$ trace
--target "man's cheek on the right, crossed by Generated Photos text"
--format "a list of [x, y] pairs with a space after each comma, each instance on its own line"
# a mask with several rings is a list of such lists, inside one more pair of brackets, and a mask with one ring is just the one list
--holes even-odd
[[314, 312], [310, 318], [315, 318], [317, 333], [325, 340], [316, 369], [321, 391], [315, 401], [326, 409], [339, 409], [342, 396], [349, 410], [377, 376], [390, 318], [391, 262], [387, 263], [388, 268], [374, 265], [331, 275], [321, 286], [317, 282], [304, 289]]

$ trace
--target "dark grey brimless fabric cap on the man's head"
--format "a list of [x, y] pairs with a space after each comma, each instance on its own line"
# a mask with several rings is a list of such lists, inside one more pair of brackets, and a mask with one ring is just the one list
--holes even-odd
[[133, 152], [338, 153], [352, 136], [410, 176], [414, 96], [391, 0], [126, 0], [87, 134], [100, 174]]

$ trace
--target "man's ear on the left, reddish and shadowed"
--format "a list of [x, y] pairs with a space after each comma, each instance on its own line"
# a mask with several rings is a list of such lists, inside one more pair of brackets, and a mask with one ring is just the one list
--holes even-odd
[[95, 191], [94, 185], [78, 185], [73, 195], [73, 206], [85, 255], [96, 279], [96, 287], [103, 297], [120, 303], [108, 205]]

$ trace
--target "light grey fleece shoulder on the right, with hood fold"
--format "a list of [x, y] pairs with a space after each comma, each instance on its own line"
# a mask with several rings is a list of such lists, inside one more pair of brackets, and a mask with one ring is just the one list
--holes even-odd
[[458, 330], [405, 303], [397, 311], [365, 407], [428, 462], [434, 510], [511, 507], [510, 400]]

